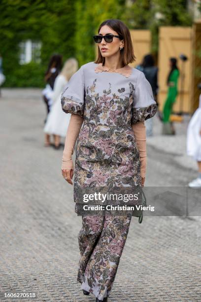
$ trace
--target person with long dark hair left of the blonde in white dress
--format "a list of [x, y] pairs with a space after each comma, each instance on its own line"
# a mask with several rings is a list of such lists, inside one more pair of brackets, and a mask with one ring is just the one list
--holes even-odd
[[[49, 64], [48, 64], [47, 71], [45, 73], [46, 86], [42, 90], [43, 100], [47, 107], [47, 116], [50, 112], [51, 105], [53, 103], [53, 101], [51, 99], [51, 95], [52, 95], [52, 91], [54, 89], [54, 82], [55, 82], [56, 77], [59, 75], [59, 73], [61, 71], [61, 67], [62, 67], [62, 56], [59, 54], [52, 55], [52, 57], [50, 58]], [[45, 123], [47, 120], [47, 116], [44, 121]], [[45, 146], [48, 147], [50, 145], [51, 145], [50, 135], [46, 134], [45, 135]]]

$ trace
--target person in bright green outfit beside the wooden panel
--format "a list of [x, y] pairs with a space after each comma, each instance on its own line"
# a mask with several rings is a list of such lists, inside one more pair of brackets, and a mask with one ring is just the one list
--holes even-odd
[[177, 82], [179, 78], [179, 70], [176, 65], [176, 58], [169, 59], [170, 72], [167, 76], [167, 98], [163, 108], [163, 132], [162, 134], [175, 134], [175, 130], [172, 122], [170, 122], [169, 117], [172, 112], [173, 104], [176, 101], [176, 96], [178, 94]]

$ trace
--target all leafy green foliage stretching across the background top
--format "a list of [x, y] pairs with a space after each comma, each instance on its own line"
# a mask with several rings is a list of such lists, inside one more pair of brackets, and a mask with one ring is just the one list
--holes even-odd
[[[191, 26], [185, 0], [1, 0], [0, 54], [4, 86], [43, 87], [44, 72], [53, 53], [79, 66], [95, 60], [93, 35], [107, 19], [120, 19], [130, 29], [150, 29], [157, 53], [160, 26]], [[158, 14], [158, 17], [156, 13]], [[19, 64], [19, 42], [42, 42], [41, 63]]]

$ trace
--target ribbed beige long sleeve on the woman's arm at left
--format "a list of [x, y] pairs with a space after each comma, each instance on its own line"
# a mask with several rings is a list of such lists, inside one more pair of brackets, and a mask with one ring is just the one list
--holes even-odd
[[[71, 114], [69, 124], [67, 127], [67, 135], [65, 139], [65, 147], [62, 157], [62, 170], [63, 169], [73, 169], [72, 154], [74, 151], [74, 146], [78, 138], [82, 123], [84, 118], [78, 114]], [[70, 159], [70, 160], [69, 160]]]

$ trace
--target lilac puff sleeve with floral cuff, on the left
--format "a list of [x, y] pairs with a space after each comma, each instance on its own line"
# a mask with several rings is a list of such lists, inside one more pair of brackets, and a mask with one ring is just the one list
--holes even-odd
[[84, 73], [81, 66], [67, 82], [61, 95], [62, 110], [84, 117]]

